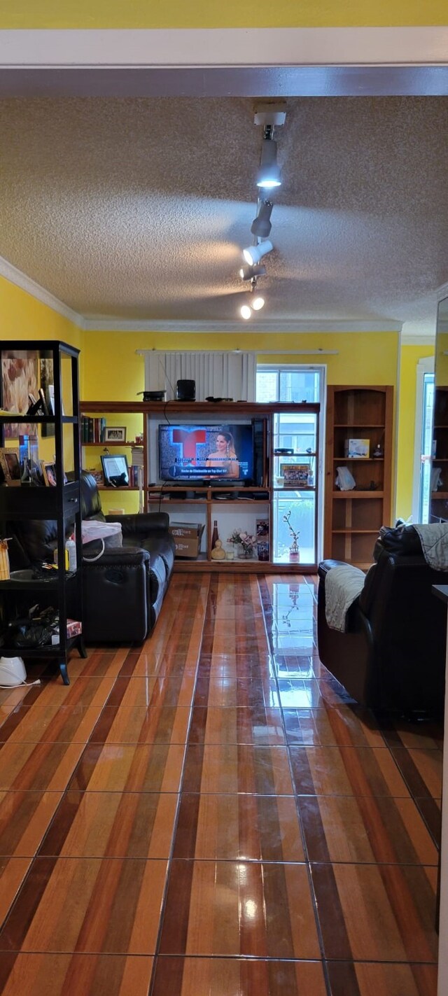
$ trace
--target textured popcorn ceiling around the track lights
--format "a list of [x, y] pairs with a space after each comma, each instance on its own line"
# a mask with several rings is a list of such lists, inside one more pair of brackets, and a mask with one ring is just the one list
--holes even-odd
[[[1, 256], [92, 319], [236, 318], [251, 100], [4, 100], [0, 134]], [[448, 280], [448, 99], [292, 99], [278, 142], [263, 319], [432, 319]]]

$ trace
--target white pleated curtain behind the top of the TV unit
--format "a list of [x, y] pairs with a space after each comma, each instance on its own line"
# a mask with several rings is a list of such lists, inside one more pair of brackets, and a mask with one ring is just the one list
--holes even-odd
[[255, 401], [256, 353], [141, 353], [145, 390], [166, 390], [167, 400], [175, 398], [177, 380], [194, 380], [197, 401], [209, 396]]

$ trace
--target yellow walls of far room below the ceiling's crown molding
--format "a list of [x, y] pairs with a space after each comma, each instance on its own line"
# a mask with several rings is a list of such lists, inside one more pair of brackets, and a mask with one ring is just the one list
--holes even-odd
[[[143, 360], [135, 350], [256, 350], [261, 363], [323, 363], [329, 383], [390, 383], [397, 387], [398, 335], [311, 333], [295, 335], [82, 332], [30, 294], [0, 277], [1, 339], [62, 339], [81, 349], [81, 396], [87, 400], [136, 400], [143, 389]], [[263, 349], [313, 350], [302, 358], [263, 354]], [[321, 356], [319, 350], [336, 350]], [[398, 428], [397, 514], [410, 514], [416, 365], [426, 347], [402, 347]], [[110, 418], [110, 424], [112, 419]], [[135, 427], [138, 430], [138, 426]]]

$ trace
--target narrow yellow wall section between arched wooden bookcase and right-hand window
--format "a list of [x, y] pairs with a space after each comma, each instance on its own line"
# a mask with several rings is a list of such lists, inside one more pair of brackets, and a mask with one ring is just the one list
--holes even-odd
[[397, 437], [396, 515], [407, 519], [412, 511], [415, 445], [415, 391], [418, 361], [433, 357], [434, 347], [402, 346]]

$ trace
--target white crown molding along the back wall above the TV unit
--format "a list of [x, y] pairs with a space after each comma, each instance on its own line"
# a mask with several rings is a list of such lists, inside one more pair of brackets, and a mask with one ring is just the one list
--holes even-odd
[[196, 333], [197, 335], [207, 335], [210, 332], [239, 332], [250, 333], [254, 336], [263, 333], [332, 333], [332, 332], [400, 332], [401, 322], [355, 322], [330, 321], [320, 319], [297, 319], [294, 322], [251, 322], [250, 329], [247, 323], [242, 322], [152, 322], [122, 321], [111, 319], [90, 319], [85, 318], [84, 327], [87, 332], [174, 332], [174, 333]]

